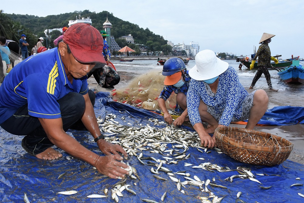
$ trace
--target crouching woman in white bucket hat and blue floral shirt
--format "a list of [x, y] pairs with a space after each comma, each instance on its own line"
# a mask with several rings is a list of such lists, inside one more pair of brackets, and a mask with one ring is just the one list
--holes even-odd
[[[246, 128], [253, 129], [267, 110], [266, 92], [256, 90], [248, 94], [234, 68], [212, 50], [196, 54], [189, 75], [192, 80], [187, 93], [188, 115], [205, 147], [215, 146], [215, 136], [208, 133], [214, 133], [217, 127], [248, 119]], [[202, 121], [209, 124], [207, 129]]]

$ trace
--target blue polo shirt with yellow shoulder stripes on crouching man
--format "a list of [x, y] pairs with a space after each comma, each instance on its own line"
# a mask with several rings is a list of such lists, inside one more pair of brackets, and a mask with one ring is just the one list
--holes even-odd
[[71, 84], [58, 48], [35, 54], [17, 64], [0, 86], [0, 123], [27, 103], [31, 116], [60, 118], [57, 101], [69, 92], [87, 94], [87, 76]]

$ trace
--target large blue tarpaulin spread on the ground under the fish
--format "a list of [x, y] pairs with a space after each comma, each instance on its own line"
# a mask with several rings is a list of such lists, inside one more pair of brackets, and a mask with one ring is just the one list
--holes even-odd
[[[150, 123], [149, 118], [163, 119], [162, 116], [153, 112], [114, 102], [109, 98], [109, 94], [102, 92], [97, 93], [94, 108], [96, 116], [101, 119], [104, 119], [106, 114], [111, 113], [125, 116], [127, 122], [135, 127], [138, 123], [142, 125]], [[271, 116], [268, 115], [267, 117], [270, 118]], [[298, 118], [301, 119], [301, 115]], [[117, 119], [117, 122], [121, 125], [126, 125], [126, 122], [121, 119]], [[89, 150], [102, 154], [98, 150], [96, 143], [92, 142], [92, 136], [88, 131], [69, 130], [67, 133]], [[107, 133], [105, 133], [106, 135]], [[23, 150], [21, 147], [22, 138], [23, 136], [9, 134], [0, 128], [1, 202], [22, 202], [24, 193], [27, 194], [30, 202], [115, 202], [111, 199], [111, 195], [106, 198], [88, 198], [87, 196], [90, 194], [103, 194], [104, 188], [109, 188], [110, 190], [116, 182], [121, 180], [103, 176], [88, 163], [71, 157], [60, 149], [56, 149], [63, 153], [63, 157], [59, 160], [46, 161], [37, 159]], [[171, 148], [170, 143], [167, 146], [169, 149]], [[215, 181], [211, 181], [212, 183], [227, 188], [209, 185], [208, 189], [216, 196], [223, 197], [221, 201], [223, 203], [236, 202], [237, 193], [240, 191], [242, 194], [239, 199], [247, 203], [304, 201], [304, 198], [298, 195], [298, 193], [304, 194], [304, 187], [290, 187], [295, 183], [304, 183], [303, 164], [286, 160], [280, 165], [271, 167], [254, 166], [238, 162], [223, 153], [217, 153], [215, 150], [211, 150], [210, 153], [201, 153], [196, 148], [189, 147], [188, 153], [190, 153], [188, 159], [179, 161], [178, 164], [164, 164], [164, 167], [172, 170], [172, 172], [185, 170], [191, 174], [191, 178], [197, 175], [202, 181], [212, 180], [214, 177]], [[162, 159], [161, 154], [150, 153], [149, 151], [143, 151], [143, 156], [153, 156], [156, 159]], [[205, 160], [199, 158], [205, 158]], [[168, 177], [168, 174], [161, 171], [158, 174], [168, 179], [167, 181], [154, 178], [150, 172], [151, 166], [141, 165], [134, 156], [130, 156], [125, 162], [136, 168], [141, 180], [132, 180], [128, 177], [126, 184], [131, 185], [129, 188], [135, 191], [136, 195], [124, 190], [122, 192], [123, 197], [119, 197], [119, 202], [143, 202], [142, 199], [161, 202], [161, 196], [165, 191], [167, 191], [167, 197], [164, 202], [201, 202], [198, 197], [208, 197], [209, 195], [200, 191], [198, 187], [191, 185], [185, 185], [185, 188], [182, 188], [185, 194], [181, 193], [177, 189], [177, 184]], [[143, 160], [143, 162], [147, 162], [147, 160]], [[247, 167], [261, 184], [241, 178], [234, 178], [233, 182], [225, 180], [227, 177], [237, 175], [237, 171], [218, 172], [213, 170], [211, 172], [201, 168], [185, 166], [185, 163], [197, 166], [205, 162], [217, 164], [220, 167], [229, 167], [230, 169]], [[58, 176], [65, 172], [66, 174], [58, 179]], [[262, 173], [267, 175], [257, 175]], [[176, 174], [175, 177], [181, 181], [186, 180], [183, 175]], [[297, 177], [301, 180], [296, 180], [295, 178]], [[261, 189], [260, 186], [272, 187], [265, 190]], [[60, 191], [70, 190], [78, 191], [78, 193], [72, 195], [58, 194]], [[212, 201], [212, 198], [209, 198], [209, 200]]]

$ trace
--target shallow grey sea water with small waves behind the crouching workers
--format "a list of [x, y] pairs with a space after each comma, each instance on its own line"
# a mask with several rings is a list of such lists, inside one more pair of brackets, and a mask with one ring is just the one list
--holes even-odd
[[[239, 69], [240, 62], [236, 60], [224, 60], [230, 66], [232, 66], [239, 77], [241, 84], [245, 87], [248, 92], [253, 90], [248, 90], [250, 84], [257, 72], [257, 69], [248, 70], [245, 66]], [[162, 71], [161, 65], [157, 65], [157, 60], [133, 60], [132, 62], [121, 62], [112, 60], [116, 70], [121, 75], [121, 80], [119, 86], [125, 86], [134, 76], [145, 74], [151, 70], [158, 69]], [[301, 63], [301, 62], [300, 62]], [[190, 70], [195, 65], [195, 60], [190, 60], [188, 65], [186, 65], [187, 70]], [[301, 64], [303, 65], [303, 64]], [[257, 81], [254, 86], [255, 89], [264, 89], [269, 97], [269, 108], [275, 106], [301, 106], [304, 107], [304, 84], [287, 84], [280, 79], [278, 76], [278, 71], [275, 69], [268, 69], [271, 75], [271, 83], [274, 89], [278, 89], [277, 92], [268, 89], [268, 84], [264, 74]]]

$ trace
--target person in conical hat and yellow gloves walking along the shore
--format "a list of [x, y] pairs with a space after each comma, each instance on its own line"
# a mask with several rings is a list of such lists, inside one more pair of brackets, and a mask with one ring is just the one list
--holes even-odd
[[259, 46], [257, 53], [255, 54], [255, 56], [252, 59], [252, 62], [250, 64], [250, 70], [252, 70], [254, 68], [254, 63], [257, 60], [257, 57], [259, 57], [259, 59], [257, 61], [257, 66], [259, 69], [257, 70], [257, 73], [255, 74], [249, 89], [254, 88], [254, 85], [260, 79], [260, 77], [263, 73], [266, 77], [266, 81], [267, 81], [269, 89], [273, 90], [273, 91], [278, 91], [278, 90], [275, 90], [272, 88], [270, 74], [269, 74], [269, 71], [267, 68], [267, 66], [270, 66], [270, 60], [273, 60], [273, 61], [275, 61], [275, 64], [278, 64], [278, 59], [271, 56], [270, 48], [268, 46], [268, 44], [271, 42], [271, 37], [274, 37], [274, 36], [275, 35], [263, 33], [263, 35], [261, 37], [261, 40], [259, 43], [260, 44], [262, 43], [262, 44]]

